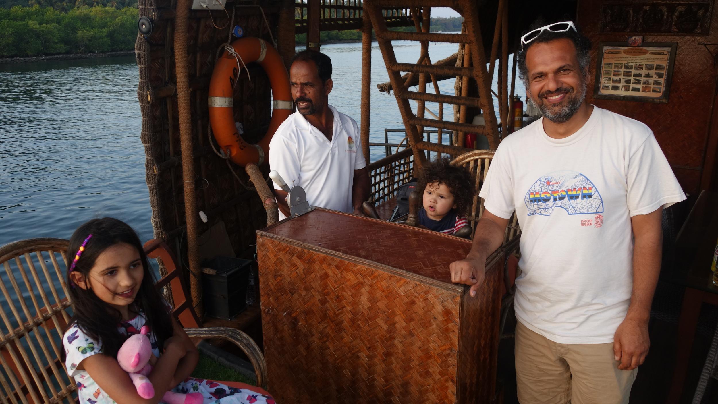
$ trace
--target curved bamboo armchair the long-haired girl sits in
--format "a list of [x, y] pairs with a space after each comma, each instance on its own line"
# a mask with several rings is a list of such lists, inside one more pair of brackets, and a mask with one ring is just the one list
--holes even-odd
[[[60, 361], [62, 334], [70, 321], [65, 283], [68, 240], [33, 238], [0, 247], [0, 403], [75, 403], [77, 388]], [[248, 356], [259, 387], [266, 389], [266, 362], [259, 347], [238, 329], [199, 328], [187, 286], [176, 260], [162, 240], [145, 244], [149, 258], [159, 258], [174, 299], [173, 314], [195, 339], [227, 339]], [[10, 287], [11, 286], [11, 287]]]

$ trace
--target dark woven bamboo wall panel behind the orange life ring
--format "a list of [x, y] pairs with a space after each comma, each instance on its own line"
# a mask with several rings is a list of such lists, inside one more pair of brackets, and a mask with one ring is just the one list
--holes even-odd
[[[218, 51], [236, 38], [230, 37], [234, 25], [246, 36], [261, 37], [268, 43], [277, 35], [281, 1], [261, 1], [258, 6], [230, 2], [223, 11], [190, 11], [187, 25], [187, 70], [190, 85], [192, 141], [195, 160], [197, 209], [210, 217], [199, 223], [201, 234], [222, 220], [230, 243], [238, 255], [254, 253], [254, 231], [266, 225], [264, 207], [256, 191], [246, 189], [230, 171], [245, 183], [241, 167], [226, 164], [210, 145], [208, 133], [208, 87]], [[185, 194], [178, 121], [177, 75], [174, 62], [174, 2], [139, 0], [139, 15], [149, 17], [154, 29], [149, 37], [138, 37], [136, 55], [139, 66], [138, 99], [142, 112], [141, 140], [146, 154], [146, 182], [152, 207], [154, 235], [167, 240], [178, 252], [186, 249]], [[262, 13], [266, 16], [265, 22]], [[230, 22], [230, 20], [233, 20]], [[293, 34], [292, 34], [293, 36]], [[292, 41], [294, 39], [292, 38]], [[281, 41], [280, 41], [281, 42]], [[293, 42], [292, 42], [293, 43]], [[271, 117], [271, 88], [267, 76], [256, 63], [243, 67], [234, 88], [235, 119], [243, 123], [244, 138], [256, 143], [264, 136]], [[262, 169], [268, 171], [265, 164]]]

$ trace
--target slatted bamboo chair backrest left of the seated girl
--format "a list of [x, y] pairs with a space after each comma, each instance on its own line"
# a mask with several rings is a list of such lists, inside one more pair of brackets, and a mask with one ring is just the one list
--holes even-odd
[[0, 250], [0, 403], [75, 403], [62, 356], [70, 316], [67, 240], [33, 239]]

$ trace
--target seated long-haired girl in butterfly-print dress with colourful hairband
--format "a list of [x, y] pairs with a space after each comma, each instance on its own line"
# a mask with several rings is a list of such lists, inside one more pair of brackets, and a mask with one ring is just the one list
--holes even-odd
[[[168, 390], [202, 404], [274, 404], [269, 395], [190, 378], [199, 354], [154, 288], [147, 256], [134, 230], [111, 217], [81, 225], [70, 238], [67, 284], [73, 318], [62, 344], [81, 404], [154, 404]], [[141, 398], [116, 360], [132, 334], [149, 327], [154, 397]]]

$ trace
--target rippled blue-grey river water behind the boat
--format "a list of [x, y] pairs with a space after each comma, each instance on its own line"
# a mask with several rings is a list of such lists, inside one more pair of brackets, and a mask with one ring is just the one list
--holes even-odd
[[[419, 57], [416, 42], [397, 42], [394, 49], [399, 62]], [[431, 44], [429, 49], [437, 61], [456, 52], [457, 45]], [[325, 44], [322, 52], [332, 58], [334, 69], [330, 103], [361, 124], [361, 44]], [[137, 81], [134, 57], [0, 65], [0, 245], [34, 237], [69, 238], [81, 223], [106, 215], [128, 222], [142, 240], [151, 238]], [[385, 128], [404, 127], [393, 95], [376, 90], [376, 84], [386, 81], [375, 42], [374, 142], [383, 142]], [[454, 80], [439, 87], [454, 94]], [[525, 93], [520, 83], [516, 93]], [[427, 106], [438, 114], [437, 104]], [[452, 114], [450, 105], [444, 107], [445, 117]], [[389, 141], [403, 137], [393, 133]], [[383, 147], [372, 148], [372, 160], [384, 152]]]

